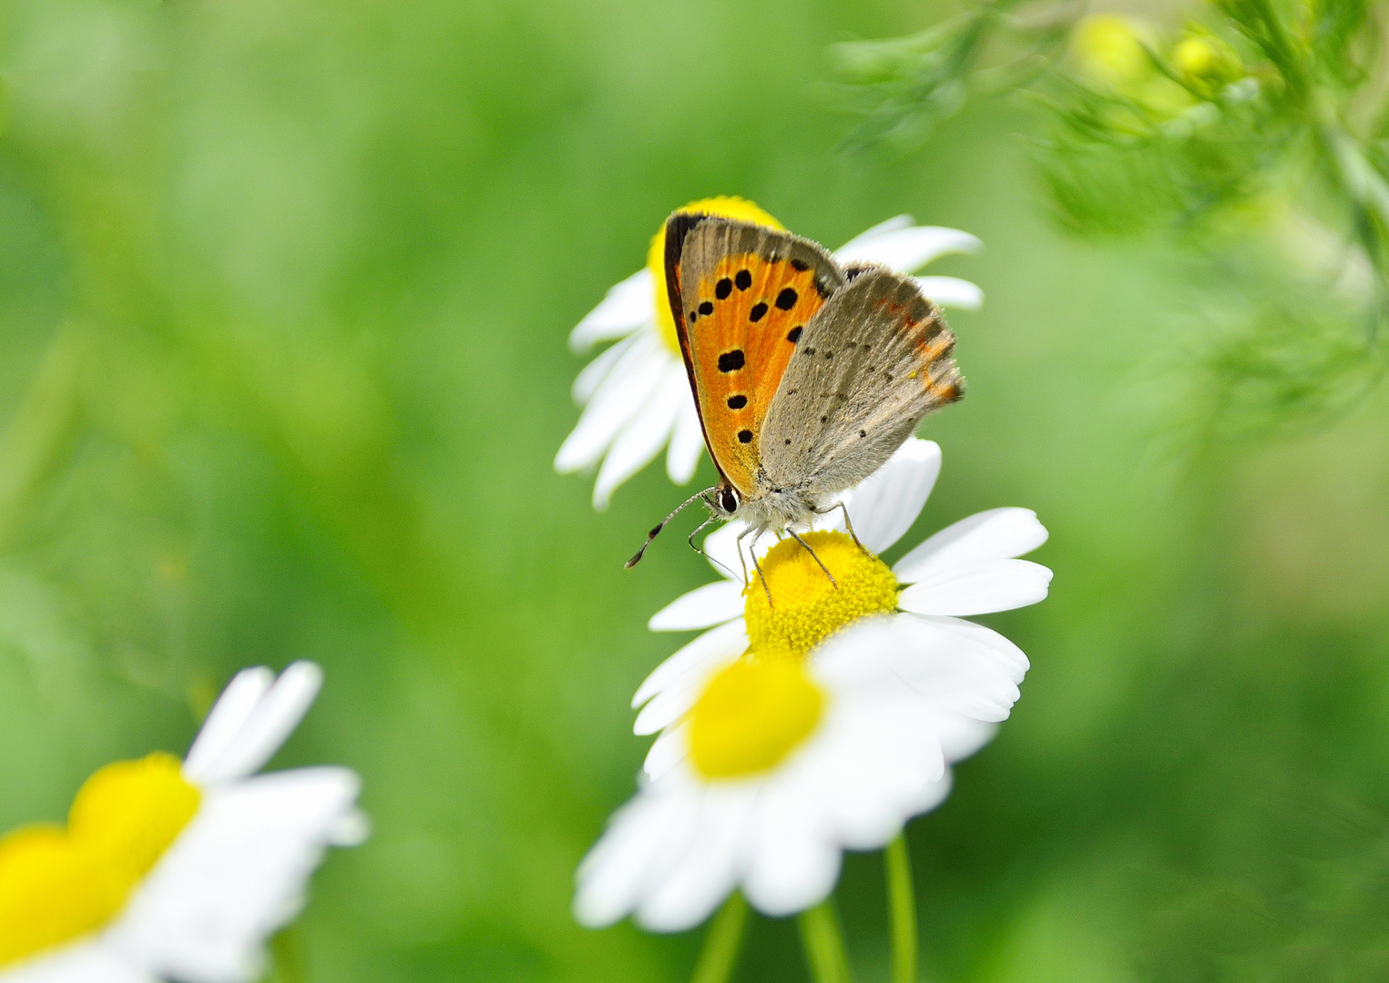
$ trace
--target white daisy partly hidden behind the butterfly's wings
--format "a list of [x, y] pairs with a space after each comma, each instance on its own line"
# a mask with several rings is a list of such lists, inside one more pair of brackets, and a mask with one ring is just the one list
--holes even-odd
[[[692, 201], [682, 211], [783, 228], [756, 204], [738, 197]], [[842, 264], [881, 262], [910, 274], [946, 253], [975, 253], [981, 247], [968, 232], [914, 225], [910, 215], [897, 215], [845, 243], [835, 258]], [[569, 347], [576, 354], [601, 342], [615, 342], [574, 380], [574, 401], [583, 412], [554, 458], [554, 469], [561, 475], [603, 462], [593, 485], [597, 510], [607, 508], [613, 492], [663, 447], [668, 447], [667, 473], [676, 485], [685, 485], [694, 476], [704, 447], [665, 299], [664, 257], [663, 224], [651, 239], [646, 269], [610, 289], [603, 303], [569, 333]], [[968, 280], [918, 276], [917, 282], [942, 307], [972, 311], [983, 303], [983, 292]]]

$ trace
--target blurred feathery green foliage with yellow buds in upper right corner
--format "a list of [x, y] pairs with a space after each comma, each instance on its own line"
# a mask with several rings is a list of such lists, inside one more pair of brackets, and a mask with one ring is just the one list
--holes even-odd
[[[1035, 161], [1079, 235], [1163, 233], [1210, 308], [1174, 335], [1203, 437], [1353, 405], [1383, 376], [1389, 60], [1367, 0], [1221, 0], [1185, 26], [1075, 3], [981, 3], [835, 50], [856, 146], [918, 147], [972, 96], [1038, 107]], [[1182, 340], [1182, 335], [1190, 340]], [[1200, 387], [1201, 398], [1192, 390]]]

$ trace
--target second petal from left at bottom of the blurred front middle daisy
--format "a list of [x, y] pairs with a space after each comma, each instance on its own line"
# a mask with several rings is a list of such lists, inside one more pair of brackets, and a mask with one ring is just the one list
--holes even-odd
[[685, 932], [708, 918], [738, 880], [754, 793], [738, 786], [704, 787], [694, 837], [638, 905], [636, 921], [651, 932]]

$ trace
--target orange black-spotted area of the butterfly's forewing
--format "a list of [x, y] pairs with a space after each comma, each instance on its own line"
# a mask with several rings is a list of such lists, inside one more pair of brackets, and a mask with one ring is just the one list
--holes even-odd
[[801, 329], [825, 304], [814, 271], [799, 265], [743, 253], [721, 260], [699, 283], [679, 285], [704, 439], [720, 472], [745, 496], [756, 487], [772, 396]]

